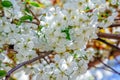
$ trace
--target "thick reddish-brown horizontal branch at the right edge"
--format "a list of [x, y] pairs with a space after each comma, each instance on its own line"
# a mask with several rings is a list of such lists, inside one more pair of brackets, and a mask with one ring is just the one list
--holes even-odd
[[120, 39], [120, 34], [97, 33], [99, 37], [108, 39]]

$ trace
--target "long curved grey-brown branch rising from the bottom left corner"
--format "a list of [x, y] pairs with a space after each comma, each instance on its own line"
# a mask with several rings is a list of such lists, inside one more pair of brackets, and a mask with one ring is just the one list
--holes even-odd
[[49, 56], [49, 55], [52, 54], [52, 53], [53, 53], [53, 51], [41, 52], [41, 53], [40, 53], [40, 56], [35, 57], [35, 58], [31, 59], [31, 60], [28, 60], [28, 61], [25, 61], [25, 62], [22, 62], [22, 63], [18, 64], [16, 67], [12, 68], [11, 70], [9, 70], [9, 71], [7, 72], [7, 75], [6, 75], [6, 77], [5, 77], [5, 80], [9, 80], [10, 75], [11, 75], [14, 71], [16, 71], [16, 70], [18, 70], [19, 68], [23, 67], [24, 65], [33, 63], [33, 62], [35, 62], [35, 61], [37, 61], [37, 60], [39, 60], [39, 59], [41, 59], [41, 58], [44, 58], [45, 56]]

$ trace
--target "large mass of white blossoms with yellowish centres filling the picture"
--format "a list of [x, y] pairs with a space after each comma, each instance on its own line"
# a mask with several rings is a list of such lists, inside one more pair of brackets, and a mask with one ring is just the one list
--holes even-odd
[[[15, 64], [37, 57], [36, 50], [54, 51], [52, 59], [46, 56], [22, 68], [33, 73], [36, 80], [79, 80], [94, 55], [91, 49], [85, 50], [87, 42], [97, 38], [97, 27], [106, 28], [114, 22], [120, 6], [120, 0], [62, 0], [61, 6], [31, 6], [33, 13], [39, 14], [38, 26], [27, 21], [15, 23], [25, 14], [34, 17], [24, 11], [25, 1], [32, 0], [10, 1], [13, 6], [4, 8], [0, 19], [1, 69], [8, 71]], [[15, 52], [9, 52], [9, 46]]]

